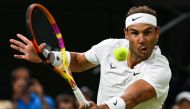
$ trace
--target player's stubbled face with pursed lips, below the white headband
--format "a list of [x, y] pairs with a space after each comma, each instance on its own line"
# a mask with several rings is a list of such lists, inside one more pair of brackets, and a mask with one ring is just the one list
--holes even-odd
[[125, 38], [129, 40], [131, 56], [146, 60], [152, 54], [152, 50], [158, 40], [160, 31], [148, 24], [133, 24], [125, 30]]

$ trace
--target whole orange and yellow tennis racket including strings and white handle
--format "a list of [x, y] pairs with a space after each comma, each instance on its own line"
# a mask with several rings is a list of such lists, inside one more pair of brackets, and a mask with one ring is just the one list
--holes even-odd
[[[55, 67], [52, 65], [50, 66], [53, 68], [54, 71], [56, 71], [58, 74], [60, 74], [63, 78], [67, 80], [78, 102], [83, 102], [85, 103], [86, 107], [89, 107], [89, 103], [87, 102], [84, 95], [78, 88], [72, 76], [67, 60], [63, 37], [51, 13], [41, 4], [34, 3], [31, 4], [27, 9], [26, 21], [27, 28], [30, 33], [30, 37], [28, 38], [31, 39], [31, 41], [33, 42], [33, 45], [38, 55], [44, 63], [47, 63], [47, 58], [44, 57], [42, 53], [43, 51], [40, 49], [39, 44], [45, 42], [52, 48], [59, 48], [62, 54], [62, 64], [59, 67]], [[64, 69], [64, 71], [62, 69]]]

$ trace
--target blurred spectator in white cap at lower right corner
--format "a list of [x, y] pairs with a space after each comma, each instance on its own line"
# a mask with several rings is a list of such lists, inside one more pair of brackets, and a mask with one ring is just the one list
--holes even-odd
[[190, 92], [179, 93], [172, 109], [190, 109]]

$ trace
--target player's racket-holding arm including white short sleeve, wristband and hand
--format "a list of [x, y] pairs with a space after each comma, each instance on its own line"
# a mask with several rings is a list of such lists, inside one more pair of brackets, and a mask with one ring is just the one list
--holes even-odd
[[[164, 76], [163, 76], [164, 74]], [[98, 108], [90, 109], [132, 109], [136, 105], [145, 102], [153, 97], [161, 97], [168, 91], [171, 79], [170, 69], [150, 68], [146, 75], [131, 84], [120, 97], [113, 97]]]

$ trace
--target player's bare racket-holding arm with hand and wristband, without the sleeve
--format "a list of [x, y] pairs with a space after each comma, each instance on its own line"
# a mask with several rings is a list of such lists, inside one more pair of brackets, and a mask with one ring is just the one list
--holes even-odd
[[97, 109], [132, 109], [153, 97], [156, 97], [156, 91], [152, 85], [141, 79], [131, 84], [121, 97], [114, 97]]

